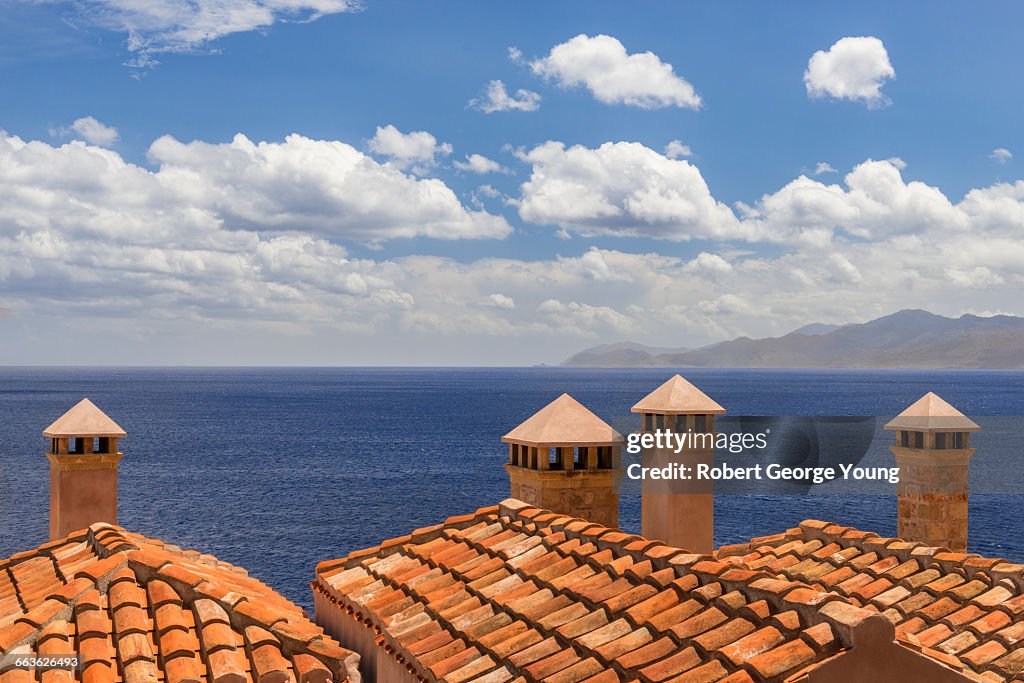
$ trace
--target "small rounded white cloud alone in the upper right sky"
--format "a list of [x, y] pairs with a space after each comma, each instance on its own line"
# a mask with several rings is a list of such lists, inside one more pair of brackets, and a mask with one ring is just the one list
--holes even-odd
[[881, 40], [873, 36], [847, 37], [836, 41], [828, 50], [811, 55], [804, 84], [811, 97], [850, 99], [877, 108], [889, 103], [882, 86], [895, 76]]

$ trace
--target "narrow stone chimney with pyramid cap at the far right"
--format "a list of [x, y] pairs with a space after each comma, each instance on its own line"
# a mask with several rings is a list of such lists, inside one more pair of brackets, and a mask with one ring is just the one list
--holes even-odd
[[891, 447], [899, 467], [897, 536], [967, 550], [971, 432], [981, 427], [928, 392], [885, 428], [896, 432]]

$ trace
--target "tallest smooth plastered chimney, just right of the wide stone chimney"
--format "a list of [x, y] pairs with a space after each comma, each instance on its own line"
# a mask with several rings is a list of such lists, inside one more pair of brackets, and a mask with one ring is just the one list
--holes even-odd
[[[679, 375], [651, 391], [633, 407], [642, 417], [642, 431], [710, 434], [710, 438], [687, 439], [680, 453], [675, 449], [645, 449], [643, 467], [665, 468], [680, 464], [696, 471], [698, 464], [714, 461], [715, 416], [725, 409]], [[694, 553], [715, 549], [715, 492], [712, 482], [653, 479], [642, 484], [642, 533], [670, 546]]]

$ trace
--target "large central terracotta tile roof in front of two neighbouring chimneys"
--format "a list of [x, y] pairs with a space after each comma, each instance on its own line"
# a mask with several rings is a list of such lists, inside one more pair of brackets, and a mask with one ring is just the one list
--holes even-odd
[[878, 607], [820, 583], [514, 500], [323, 562], [313, 590], [423, 681], [781, 682], [879, 634], [978, 679], [955, 657], [897, 644]]

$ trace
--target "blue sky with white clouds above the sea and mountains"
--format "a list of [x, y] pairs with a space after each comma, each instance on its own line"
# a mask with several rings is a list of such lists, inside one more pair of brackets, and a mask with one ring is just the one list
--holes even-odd
[[[0, 212], [9, 241], [0, 349], [11, 361], [504, 365], [626, 338], [694, 346], [781, 334], [909, 306], [1024, 313], [1024, 273], [1008, 251], [1024, 230], [1019, 4], [309, 0], [300, 15], [273, 2], [225, 5], [270, 18], [229, 27], [206, 15], [196, 29], [200, 0], [153, 3], [161, 11], [145, 17], [120, 0], [0, 0], [0, 129], [45, 145], [39, 158], [16, 144], [0, 157], [0, 201], [29, 197], [31, 206]], [[214, 38], [196, 39], [202, 31]], [[582, 63], [585, 44], [607, 52], [603, 69], [615, 63], [601, 36], [621, 43], [622, 59], [653, 59], [634, 63], [634, 85], [609, 86], [603, 101], [593, 87], [602, 67]], [[847, 38], [861, 42], [829, 53]], [[815, 91], [805, 73], [819, 51], [835, 59]], [[666, 78], [648, 79], [659, 69]], [[843, 94], [835, 79], [844, 78], [876, 94]], [[534, 93], [535, 111], [468, 106], [496, 80], [513, 96]], [[631, 87], [660, 103], [614, 90]], [[87, 117], [105, 137], [74, 124]], [[386, 126], [433, 136], [433, 158], [389, 156], [373, 142]], [[265, 159], [248, 181], [214, 172], [237, 134], [284, 145], [273, 150], [285, 158], [296, 133], [365, 155], [374, 173], [400, 176], [388, 176], [398, 195], [450, 189], [443, 225], [409, 229], [429, 220], [417, 211], [433, 209], [408, 196], [380, 190], [385, 209], [408, 208], [400, 217], [359, 204], [378, 190], [374, 180], [333, 186], [344, 169], [331, 164], [347, 162], [321, 166], [315, 152], [292, 160], [318, 169], [300, 179]], [[214, 146], [156, 145], [163, 136]], [[689, 154], [667, 154], [673, 140]], [[503, 172], [456, 166], [471, 154]], [[100, 159], [103, 171], [90, 166]], [[819, 163], [835, 171], [815, 174]], [[607, 174], [600, 187], [588, 176], [595, 164]], [[181, 169], [217, 197], [165, 172]], [[82, 182], [108, 172], [98, 187]], [[131, 186], [121, 173], [154, 186], [112, 191]], [[791, 185], [801, 176], [806, 183]], [[587, 197], [564, 193], [565, 182]], [[981, 194], [964, 204], [972, 190]], [[309, 204], [308, 214], [256, 206], [279, 193]], [[49, 199], [35, 204], [40, 195]], [[212, 222], [169, 218], [173, 229], [146, 233], [166, 215], [157, 207], [171, 204]], [[59, 246], [40, 251], [43, 242]], [[274, 267], [254, 256], [260, 245], [311, 260], [289, 257], [290, 270], [279, 261], [270, 276]], [[901, 249], [922, 263], [886, 261]], [[75, 267], [60, 250], [85, 260]], [[210, 282], [220, 267], [226, 280]], [[68, 312], [43, 314], [54, 307]], [[133, 333], [113, 347], [44, 333], [119, 325]]]

